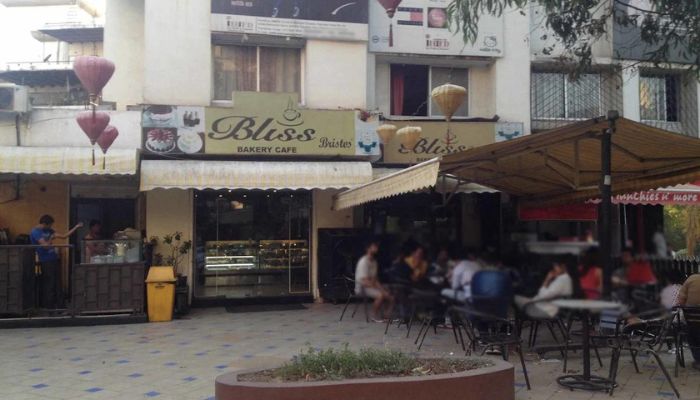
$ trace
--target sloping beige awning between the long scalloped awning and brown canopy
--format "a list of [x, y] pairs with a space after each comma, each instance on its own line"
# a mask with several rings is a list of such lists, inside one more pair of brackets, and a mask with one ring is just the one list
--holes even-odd
[[383, 176], [365, 185], [339, 193], [333, 202], [333, 209], [342, 210], [370, 201], [435, 186], [439, 169], [440, 158], [433, 158]]

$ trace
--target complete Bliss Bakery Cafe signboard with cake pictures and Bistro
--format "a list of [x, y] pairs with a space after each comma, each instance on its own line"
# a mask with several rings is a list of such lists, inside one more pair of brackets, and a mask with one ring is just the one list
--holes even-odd
[[150, 154], [257, 157], [378, 157], [376, 117], [354, 110], [299, 107], [296, 93], [234, 93], [234, 106], [146, 106], [143, 149]]

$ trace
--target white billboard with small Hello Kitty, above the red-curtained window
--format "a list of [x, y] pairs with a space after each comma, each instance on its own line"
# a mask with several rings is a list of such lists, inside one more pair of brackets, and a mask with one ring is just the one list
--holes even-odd
[[369, 50], [500, 57], [503, 55], [503, 19], [482, 15], [474, 43], [450, 30], [447, 6], [452, 0], [403, 0], [393, 12], [379, 0], [369, 0]]

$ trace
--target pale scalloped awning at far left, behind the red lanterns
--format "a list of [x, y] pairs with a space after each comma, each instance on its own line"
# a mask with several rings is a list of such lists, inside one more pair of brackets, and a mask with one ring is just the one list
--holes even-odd
[[0, 174], [136, 175], [138, 150], [112, 149], [105, 156], [82, 147], [0, 146]]

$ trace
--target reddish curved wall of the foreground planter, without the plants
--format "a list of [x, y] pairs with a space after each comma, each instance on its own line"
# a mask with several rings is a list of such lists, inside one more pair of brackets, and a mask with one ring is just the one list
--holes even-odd
[[217, 400], [513, 400], [513, 365], [424, 377], [349, 379], [332, 382], [238, 382], [239, 374], [216, 378]]

